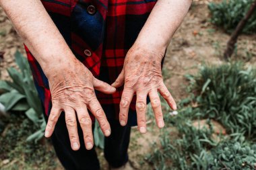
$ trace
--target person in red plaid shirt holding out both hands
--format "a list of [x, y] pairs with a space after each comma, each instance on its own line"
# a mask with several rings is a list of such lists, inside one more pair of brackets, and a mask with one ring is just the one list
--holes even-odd
[[131, 169], [131, 126], [146, 132], [148, 101], [159, 128], [164, 120], [158, 92], [177, 109], [161, 66], [191, 0], [0, 0], [0, 5], [26, 44], [47, 121], [45, 136], [51, 136], [63, 167], [100, 169], [92, 135], [96, 118], [110, 169]]

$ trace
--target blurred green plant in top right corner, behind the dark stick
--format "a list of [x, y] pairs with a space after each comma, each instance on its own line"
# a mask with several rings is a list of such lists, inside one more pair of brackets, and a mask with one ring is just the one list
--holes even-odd
[[[212, 14], [211, 22], [220, 26], [226, 32], [232, 32], [245, 17], [253, 0], [223, 0], [221, 3], [212, 2], [208, 5]], [[247, 22], [244, 33], [255, 33], [256, 30], [256, 12]]]

